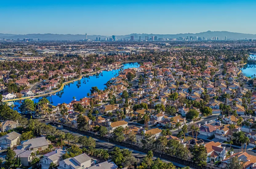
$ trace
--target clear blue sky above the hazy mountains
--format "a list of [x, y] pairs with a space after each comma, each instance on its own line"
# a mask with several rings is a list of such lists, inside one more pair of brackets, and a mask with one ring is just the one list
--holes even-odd
[[0, 33], [127, 35], [230, 31], [256, 34], [254, 0], [2, 1]]

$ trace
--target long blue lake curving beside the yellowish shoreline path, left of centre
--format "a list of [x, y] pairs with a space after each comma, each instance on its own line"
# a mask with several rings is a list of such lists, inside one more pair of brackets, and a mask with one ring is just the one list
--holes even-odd
[[[138, 62], [128, 62], [123, 64], [124, 69], [138, 67]], [[93, 75], [89, 78], [83, 77], [80, 81], [75, 81], [74, 83], [66, 84], [62, 91], [55, 93], [55, 95], [47, 96], [46, 98], [51, 102], [52, 105], [56, 106], [58, 103], [70, 103], [73, 100], [73, 96], [76, 100], [80, 98], [87, 97], [87, 93], [90, 93], [91, 87], [97, 86], [98, 89], [104, 89], [106, 87], [107, 81], [118, 74], [119, 69], [112, 71], [102, 71], [98, 76]], [[80, 82], [80, 84], [79, 84]], [[34, 102], [38, 102], [42, 97], [34, 98]], [[22, 100], [14, 102], [14, 105], [20, 105]]]

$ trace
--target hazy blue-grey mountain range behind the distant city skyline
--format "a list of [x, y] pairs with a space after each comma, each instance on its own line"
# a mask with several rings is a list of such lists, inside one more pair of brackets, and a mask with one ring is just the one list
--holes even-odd
[[[212, 38], [212, 37], [219, 37], [219, 39], [225, 39], [225, 36], [227, 36], [228, 39], [256, 39], [255, 34], [245, 34], [245, 33], [236, 33], [236, 32], [227, 32], [227, 31], [207, 31], [207, 32], [200, 32], [200, 33], [180, 33], [180, 34], [137, 34], [133, 33], [130, 35], [117, 35], [117, 39], [130, 39], [131, 36], [134, 36], [134, 39], [139, 39], [139, 36], [141, 36], [141, 39], [145, 39], [145, 36], [157, 36], [157, 38], [178, 38], [178, 37], [187, 37], [187, 36], [198, 36], [198, 37], [206, 37], [206, 38]], [[96, 39], [96, 37], [100, 37], [101, 39], [107, 38], [110, 36], [101, 36], [101, 35], [87, 35], [87, 39]], [[42, 40], [80, 40], [80, 39], [86, 39], [85, 35], [72, 35], [72, 34], [26, 34], [26, 35], [15, 35], [15, 34], [3, 34], [0, 33], [0, 39], [42, 39]]]

